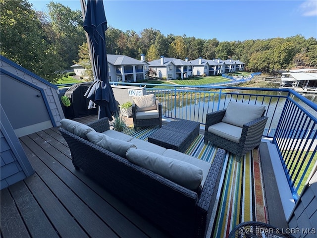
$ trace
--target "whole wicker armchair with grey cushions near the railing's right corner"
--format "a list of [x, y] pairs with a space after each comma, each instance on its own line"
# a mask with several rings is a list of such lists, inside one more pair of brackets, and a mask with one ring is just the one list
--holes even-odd
[[229, 102], [227, 109], [208, 113], [205, 144], [230, 151], [241, 161], [243, 155], [260, 145], [267, 117], [265, 106]]

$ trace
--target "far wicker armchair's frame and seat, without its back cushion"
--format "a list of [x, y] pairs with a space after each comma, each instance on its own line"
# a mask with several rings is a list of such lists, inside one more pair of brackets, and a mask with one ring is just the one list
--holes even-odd
[[[162, 127], [162, 105], [159, 100], [155, 100], [156, 102], [156, 110], [149, 110], [138, 112], [137, 106], [133, 102], [132, 104], [132, 117], [133, 117], [133, 125], [134, 130], [137, 130], [138, 126], [152, 126], [152, 125], [159, 125]], [[140, 115], [142, 114], [142, 115]], [[154, 114], [158, 114], [155, 115]]]

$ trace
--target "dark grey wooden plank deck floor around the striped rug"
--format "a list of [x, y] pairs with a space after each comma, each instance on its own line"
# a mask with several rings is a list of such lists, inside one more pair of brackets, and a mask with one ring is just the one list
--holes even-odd
[[[89, 116], [76, 120], [89, 123], [96, 119]], [[20, 141], [35, 174], [1, 190], [1, 238], [167, 237], [83, 171], [76, 171], [57, 127], [23, 136]], [[262, 163], [270, 163], [268, 159], [261, 153]], [[265, 184], [266, 177], [272, 178], [271, 168], [263, 170]], [[277, 204], [274, 199], [278, 197], [270, 198], [277, 194], [271, 184], [269, 181], [265, 185], [269, 187], [266, 200], [272, 205]], [[268, 206], [269, 217], [281, 215], [280, 209], [281, 206]], [[280, 217], [275, 220], [275, 226], [286, 224]], [[278, 221], [283, 223], [277, 224]]]

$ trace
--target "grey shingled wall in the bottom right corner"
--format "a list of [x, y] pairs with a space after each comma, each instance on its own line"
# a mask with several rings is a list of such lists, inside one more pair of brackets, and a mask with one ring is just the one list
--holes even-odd
[[297, 201], [288, 225], [296, 229], [295, 237], [317, 238], [317, 172]]

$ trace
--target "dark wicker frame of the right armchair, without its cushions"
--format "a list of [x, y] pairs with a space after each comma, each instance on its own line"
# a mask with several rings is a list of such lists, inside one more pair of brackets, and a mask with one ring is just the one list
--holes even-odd
[[[235, 105], [237, 104], [239, 103], [235, 103]], [[240, 161], [243, 155], [258, 147], [261, 143], [264, 127], [268, 119], [267, 117], [263, 116], [264, 112], [262, 117], [253, 119], [241, 126], [242, 132], [240, 139], [238, 138], [238, 141], [232, 141], [230, 138], [228, 139], [228, 137], [223, 138], [222, 136], [211, 132], [210, 126], [212, 125], [222, 123], [221, 125], [225, 126], [223, 123], [223, 118], [225, 116], [226, 109], [207, 114], [204, 138], [205, 144], [210, 141], [212, 144], [235, 154], [237, 156], [237, 160]], [[228, 126], [232, 125], [229, 124]]]

